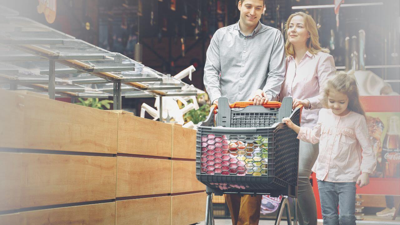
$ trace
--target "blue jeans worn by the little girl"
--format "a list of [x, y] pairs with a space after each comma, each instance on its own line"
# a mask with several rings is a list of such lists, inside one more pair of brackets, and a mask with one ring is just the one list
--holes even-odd
[[318, 180], [318, 191], [324, 225], [356, 225], [356, 182]]

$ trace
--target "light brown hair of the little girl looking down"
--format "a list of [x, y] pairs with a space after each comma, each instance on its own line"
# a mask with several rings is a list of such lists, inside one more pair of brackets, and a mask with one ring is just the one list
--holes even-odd
[[358, 94], [358, 87], [356, 79], [348, 74], [338, 74], [330, 78], [324, 88], [322, 103], [325, 108], [329, 108], [328, 106], [328, 95], [332, 90], [336, 90], [337, 92], [346, 94], [349, 98], [349, 104], [347, 108], [353, 112], [357, 112], [365, 117], [364, 108], [360, 103], [360, 96]]

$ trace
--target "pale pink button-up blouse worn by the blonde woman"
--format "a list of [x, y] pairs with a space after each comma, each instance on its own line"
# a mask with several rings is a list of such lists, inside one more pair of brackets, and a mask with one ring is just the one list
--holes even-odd
[[317, 123], [318, 112], [322, 108], [320, 92], [326, 80], [335, 72], [335, 62], [328, 53], [318, 52], [313, 55], [307, 51], [297, 66], [293, 56], [286, 57], [286, 75], [279, 97], [283, 99], [292, 96], [310, 101], [310, 110], [302, 112], [302, 127], [312, 128]]

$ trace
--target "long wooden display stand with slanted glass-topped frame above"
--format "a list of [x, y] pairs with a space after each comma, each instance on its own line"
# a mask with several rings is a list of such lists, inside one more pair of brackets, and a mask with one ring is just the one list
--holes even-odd
[[[159, 97], [162, 112], [163, 96], [204, 92], [12, 10], [0, 13], [0, 224], [202, 221], [196, 131], [120, 109], [122, 96]], [[114, 110], [58, 96], [113, 96]]]

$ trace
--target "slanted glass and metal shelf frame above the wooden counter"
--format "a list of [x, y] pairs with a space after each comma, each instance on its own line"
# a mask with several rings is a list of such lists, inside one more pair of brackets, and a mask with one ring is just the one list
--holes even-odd
[[[50, 99], [55, 99], [58, 94], [73, 98], [113, 96], [114, 110], [122, 109], [122, 96], [159, 96], [160, 113], [162, 96], [204, 93], [122, 54], [19, 17], [14, 10], [3, 6], [0, 9], [0, 16], [6, 18], [0, 23], [0, 29], [4, 30], [0, 35], [0, 84], [9, 84], [11, 90], [17, 90], [21, 85], [47, 91]], [[47, 68], [30, 68], [32, 64], [46, 64], [47, 61]], [[25, 63], [30, 66], [24, 66]], [[99, 85], [106, 86], [88, 87]]]

